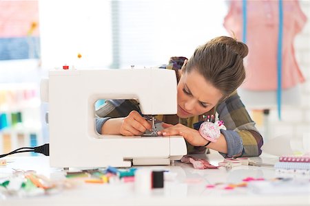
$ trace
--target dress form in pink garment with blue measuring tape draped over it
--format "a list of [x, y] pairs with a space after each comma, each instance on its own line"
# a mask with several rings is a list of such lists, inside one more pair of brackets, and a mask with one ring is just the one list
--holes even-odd
[[300, 104], [298, 84], [304, 82], [304, 76], [295, 59], [293, 39], [306, 21], [298, 1], [231, 1], [224, 27], [249, 47], [247, 78], [238, 89], [247, 107], [270, 109], [278, 104], [280, 118], [281, 104]]

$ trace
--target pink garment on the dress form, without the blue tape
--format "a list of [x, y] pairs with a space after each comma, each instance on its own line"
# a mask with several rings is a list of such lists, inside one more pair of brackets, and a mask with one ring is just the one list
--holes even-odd
[[[283, 2], [282, 89], [304, 82], [297, 65], [293, 40], [302, 30], [307, 17], [298, 1]], [[270, 91], [277, 88], [278, 1], [247, 1], [247, 78], [242, 88]], [[242, 40], [242, 1], [231, 1], [224, 27]], [[232, 34], [231, 34], [232, 35]]]

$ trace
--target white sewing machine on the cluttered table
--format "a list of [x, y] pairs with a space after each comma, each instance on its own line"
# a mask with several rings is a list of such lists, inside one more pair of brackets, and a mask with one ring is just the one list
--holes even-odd
[[143, 115], [176, 114], [176, 74], [169, 69], [56, 69], [41, 82], [49, 102], [50, 165], [61, 168], [169, 165], [187, 155], [185, 139], [99, 135], [95, 102], [136, 99]]

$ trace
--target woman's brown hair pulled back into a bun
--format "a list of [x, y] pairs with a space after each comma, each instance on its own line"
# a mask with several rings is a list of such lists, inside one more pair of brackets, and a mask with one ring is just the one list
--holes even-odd
[[243, 58], [248, 51], [244, 43], [228, 36], [219, 36], [197, 47], [183, 72], [196, 69], [223, 93], [221, 100], [225, 100], [245, 80]]

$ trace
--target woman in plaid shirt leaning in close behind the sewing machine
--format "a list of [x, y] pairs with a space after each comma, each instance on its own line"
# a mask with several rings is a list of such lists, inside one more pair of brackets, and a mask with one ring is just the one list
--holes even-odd
[[[247, 53], [244, 43], [220, 36], [199, 46], [189, 60], [172, 58], [166, 68], [174, 69], [178, 78], [178, 111], [156, 117], [163, 122], [158, 135], [183, 136], [189, 153], [211, 148], [223, 157], [260, 155], [262, 136], [236, 93], [245, 80]], [[96, 111], [96, 130], [103, 135], [142, 135], [152, 126], [139, 112], [135, 100], [108, 100]], [[209, 142], [198, 128], [203, 115], [216, 114], [227, 130], [220, 130], [218, 140]]]

